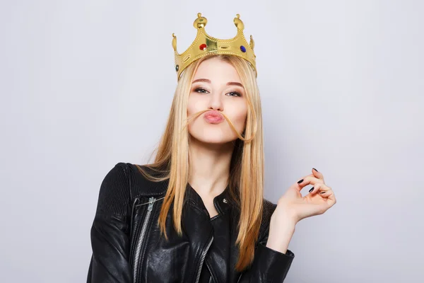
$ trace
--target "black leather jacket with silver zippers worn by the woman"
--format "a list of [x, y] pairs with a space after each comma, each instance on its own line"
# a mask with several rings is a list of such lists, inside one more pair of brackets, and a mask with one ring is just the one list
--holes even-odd
[[232, 205], [228, 190], [213, 200], [218, 213], [229, 221], [227, 227], [232, 227], [228, 262], [223, 262], [213, 260], [213, 255], [206, 257], [212, 241], [220, 239], [213, 238], [206, 207], [190, 186], [182, 214], [182, 237], [177, 236], [172, 226], [172, 206], [166, 221], [169, 241], [160, 237], [156, 224], [168, 181], [146, 180], [131, 163], [117, 163], [107, 173], [100, 186], [91, 228], [93, 256], [87, 282], [196, 283], [202, 265], [211, 273], [210, 282], [284, 281], [294, 254], [290, 250], [284, 254], [266, 247], [269, 221], [276, 204], [264, 200], [254, 261], [245, 271], [237, 272], [234, 268], [238, 255], [235, 239], [240, 212]]

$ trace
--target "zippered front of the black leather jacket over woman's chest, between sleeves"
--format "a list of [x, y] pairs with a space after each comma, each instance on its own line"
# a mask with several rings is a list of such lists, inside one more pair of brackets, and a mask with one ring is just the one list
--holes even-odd
[[[167, 215], [167, 236], [157, 225], [162, 200], [149, 198], [149, 204], [134, 207], [131, 232], [131, 266], [134, 282], [232, 282], [230, 266], [237, 256], [229, 214], [184, 208], [181, 236]], [[146, 203], [146, 199], [140, 200]]]

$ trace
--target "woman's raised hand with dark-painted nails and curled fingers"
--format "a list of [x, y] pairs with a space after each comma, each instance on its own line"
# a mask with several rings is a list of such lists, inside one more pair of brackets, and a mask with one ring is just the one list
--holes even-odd
[[[313, 187], [305, 197], [302, 197], [300, 191], [306, 185]], [[313, 168], [312, 174], [291, 185], [280, 197], [273, 217], [280, 218], [280, 215], [283, 219], [289, 217], [295, 224], [307, 217], [323, 214], [334, 204], [336, 197], [333, 190], [324, 183], [324, 175]]]

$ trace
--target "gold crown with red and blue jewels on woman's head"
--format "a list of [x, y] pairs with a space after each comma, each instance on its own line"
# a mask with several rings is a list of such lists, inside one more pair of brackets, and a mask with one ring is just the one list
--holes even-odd
[[230, 54], [246, 59], [249, 62], [256, 76], [258, 75], [256, 69], [256, 55], [254, 54], [254, 41], [252, 35], [250, 35], [250, 44], [247, 43], [243, 30], [245, 25], [240, 20], [240, 14], [237, 13], [237, 18], [234, 18], [234, 24], [237, 28], [237, 35], [228, 40], [220, 40], [215, 37], [211, 37], [205, 31], [206, 20], [205, 17], [201, 16], [201, 13], [197, 13], [197, 18], [194, 21], [194, 28], [197, 28], [197, 35], [192, 45], [184, 51], [182, 54], [177, 52], [177, 37], [172, 33], [172, 47], [175, 53], [175, 71], [177, 71], [177, 81], [179, 77], [186, 69], [189, 64], [192, 64], [197, 59], [212, 54]]

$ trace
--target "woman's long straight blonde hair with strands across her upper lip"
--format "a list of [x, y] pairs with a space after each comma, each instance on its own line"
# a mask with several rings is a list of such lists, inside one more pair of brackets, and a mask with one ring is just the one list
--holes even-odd
[[245, 270], [254, 259], [254, 246], [259, 237], [264, 198], [264, 142], [262, 132], [261, 101], [254, 69], [245, 59], [231, 55], [209, 55], [198, 59], [185, 69], [180, 77], [172, 100], [170, 115], [163, 136], [160, 139], [154, 163], [145, 165], [158, 174], [151, 174], [139, 167], [139, 171], [152, 181], [169, 179], [167, 192], [160, 209], [158, 226], [161, 235], [167, 234], [165, 221], [173, 203], [172, 220], [178, 235], [182, 235], [182, 208], [184, 193], [189, 180], [189, 122], [207, 110], [202, 110], [187, 117], [187, 104], [192, 88], [192, 79], [199, 64], [211, 57], [218, 57], [232, 64], [240, 76], [247, 98], [247, 119], [243, 132], [236, 131], [232, 122], [224, 115], [230, 127], [237, 133], [234, 151], [230, 163], [228, 180], [229, 193], [240, 209], [237, 224], [236, 245], [239, 258], [235, 269]]

